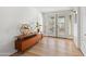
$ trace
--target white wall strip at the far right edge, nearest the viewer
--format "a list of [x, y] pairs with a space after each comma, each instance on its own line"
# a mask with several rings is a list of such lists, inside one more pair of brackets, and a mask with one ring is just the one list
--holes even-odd
[[81, 50], [86, 55], [86, 8], [81, 8]]

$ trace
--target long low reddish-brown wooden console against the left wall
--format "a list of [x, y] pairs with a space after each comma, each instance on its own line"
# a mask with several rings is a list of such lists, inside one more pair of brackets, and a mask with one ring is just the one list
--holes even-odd
[[33, 47], [36, 44], [41, 38], [41, 34], [34, 34], [30, 36], [17, 36], [17, 39], [15, 40], [15, 49], [17, 51], [24, 52], [26, 49]]

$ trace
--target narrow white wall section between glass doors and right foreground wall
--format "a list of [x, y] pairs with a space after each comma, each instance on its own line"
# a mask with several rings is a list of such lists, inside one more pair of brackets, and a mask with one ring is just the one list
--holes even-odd
[[79, 11], [78, 11], [78, 7], [72, 8], [73, 11], [76, 11], [76, 13], [74, 13], [72, 11], [72, 22], [73, 22], [73, 37], [74, 37], [74, 43], [77, 48], [79, 48], [79, 31], [78, 31], [78, 26], [79, 26]]

